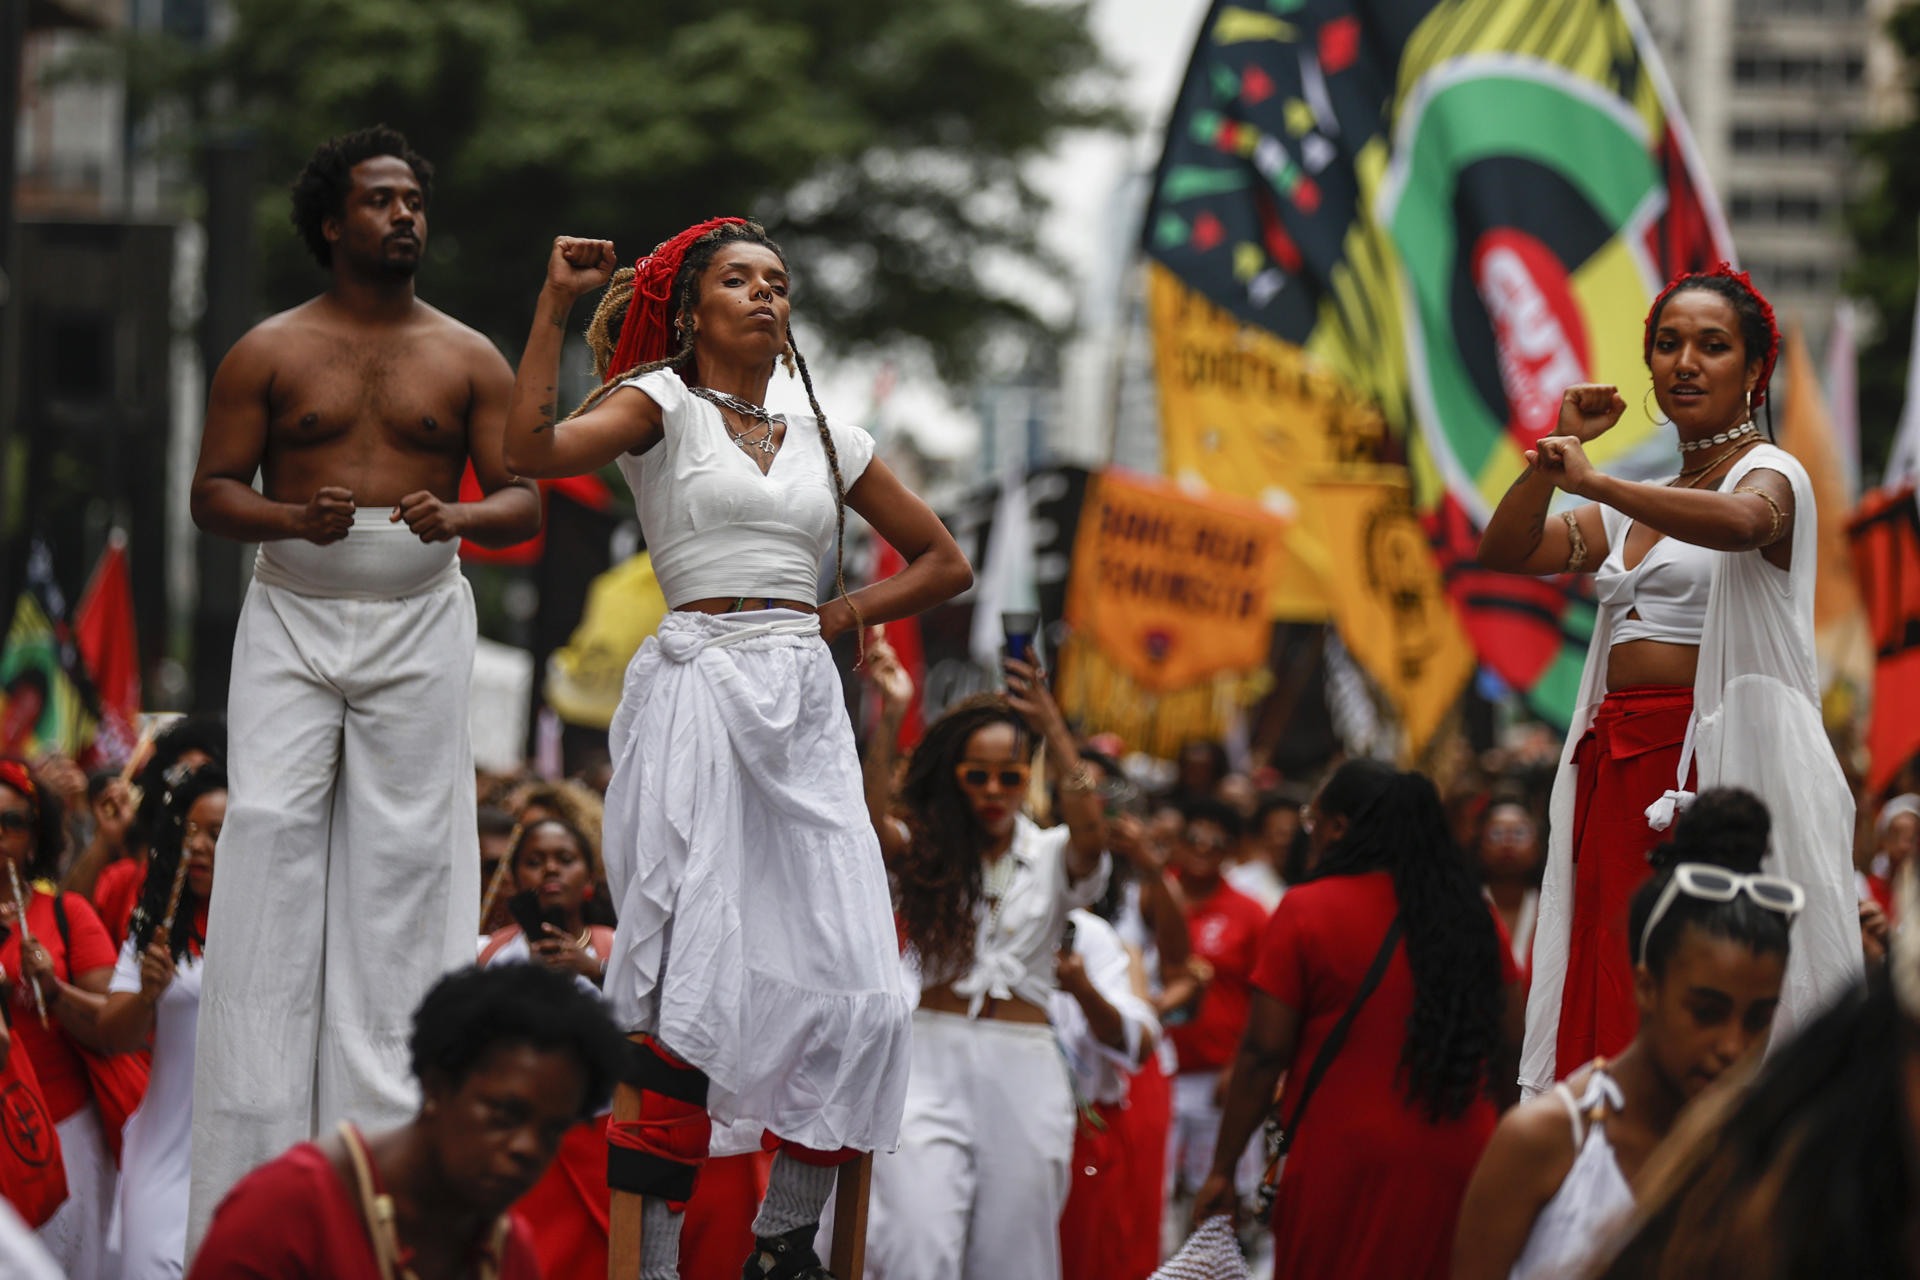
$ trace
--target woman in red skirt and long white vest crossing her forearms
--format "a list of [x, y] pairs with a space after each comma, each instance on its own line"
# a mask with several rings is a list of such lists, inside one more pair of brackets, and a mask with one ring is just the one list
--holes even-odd
[[[1534, 933], [1521, 1084], [1549, 1088], [1634, 1038], [1626, 906], [1647, 852], [1705, 787], [1774, 814], [1766, 871], [1807, 892], [1774, 1034], [1860, 971], [1853, 794], [1820, 725], [1812, 597], [1818, 524], [1807, 472], [1753, 420], [1780, 353], [1774, 311], [1720, 263], [1678, 276], [1647, 313], [1647, 395], [1680, 472], [1636, 484], [1584, 445], [1626, 413], [1613, 386], [1567, 388], [1559, 430], [1480, 539], [1513, 574], [1594, 574], [1599, 612], [1561, 770]], [[1548, 514], [1555, 489], [1586, 505]]]

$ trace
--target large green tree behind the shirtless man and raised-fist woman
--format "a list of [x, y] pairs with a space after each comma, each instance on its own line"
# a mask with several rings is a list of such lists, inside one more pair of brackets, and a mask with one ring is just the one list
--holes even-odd
[[[1058, 271], [1035, 161], [1121, 123], [1085, 2], [234, 0], [202, 119], [244, 125], [263, 173], [388, 123], [438, 167], [422, 296], [516, 349], [555, 234], [624, 259], [751, 213], [839, 344], [924, 340], [954, 376], [1044, 324], [989, 274]], [[319, 276], [261, 198], [267, 301]], [[1004, 278], [1004, 276], [1002, 276]]]

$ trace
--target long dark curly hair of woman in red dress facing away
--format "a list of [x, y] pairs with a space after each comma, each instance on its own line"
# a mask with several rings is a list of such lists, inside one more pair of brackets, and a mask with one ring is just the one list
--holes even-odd
[[1348, 760], [1319, 794], [1321, 818], [1346, 835], [1311, 879], [1386, 871], [1405, 925], [1413, 1013], [1400, 1071], [1407, 1100], [1434, 1123], [1461, 1117], [1492, 1092], [1505, 990], [1500, 931], [1480, 877], [1453, 842], [1440, 793], [1421, 773]]

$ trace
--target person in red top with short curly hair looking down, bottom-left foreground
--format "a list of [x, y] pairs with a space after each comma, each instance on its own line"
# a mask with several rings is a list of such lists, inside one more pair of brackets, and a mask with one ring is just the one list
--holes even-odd
[[607, 1105], [626, 1040], [570, 977], [499, 965], [444, 977], [413, 1015], [411, 1050], [413, 1121], [367, 1136], [342, 1125], [244, 1176], [192, 1280], [538, 1280], [509, 1207]]

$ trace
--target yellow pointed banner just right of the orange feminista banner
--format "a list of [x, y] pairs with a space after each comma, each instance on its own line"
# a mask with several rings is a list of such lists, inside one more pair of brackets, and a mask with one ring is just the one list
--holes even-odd
[[1327, 541], [1342, 549], [1342, 572], [1327, 591], [1340, 643], [1392, 700], [1417, 756], [1465, 689], [1475, 656], [1405, 474], [1379, 468], [1379, 476], [1313, 486]]

